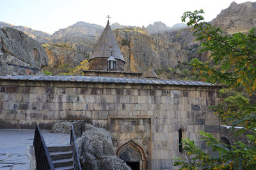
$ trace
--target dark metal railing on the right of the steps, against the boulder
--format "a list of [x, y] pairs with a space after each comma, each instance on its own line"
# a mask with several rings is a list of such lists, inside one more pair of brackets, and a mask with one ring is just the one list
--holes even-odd
[[78, 153], [77, 145], [76, 145], [76, 134], [74, 131], [73, 124], [71, 124], [70, 145], [72, 147], [74, 168], [75, 168], [75, 170], [81, 170], [82, 168], [81, 168], [81, 164], [80, 164], [80, 160], [79, 160], [79, 153]]

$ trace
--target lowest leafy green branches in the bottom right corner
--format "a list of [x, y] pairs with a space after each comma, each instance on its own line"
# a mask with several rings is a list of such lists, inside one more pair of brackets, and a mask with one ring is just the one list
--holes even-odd
[[[234, 143], [232, 149], [227, 149], [225, 143], [216, 140], [211, 134], [200, 132], [202, 140], [218, 156], [212, 156], [195, 145], [195, 141], [186, 138], [182, 140], [184, 150], [190, 159], [174, 159], [174, 166], [179, 169], [253, 169], [255, 167], [256, 147], [243, 143]], [[255, 140], [255, 136], [248, 138]], [[208, 148], [208, 149], [209, 149]]]

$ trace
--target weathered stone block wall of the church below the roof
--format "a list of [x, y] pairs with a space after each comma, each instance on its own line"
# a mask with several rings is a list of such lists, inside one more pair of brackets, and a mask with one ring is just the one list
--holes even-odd
[[0, 128], [50, 128], [60, 120], [90, 119], [111, 132], [113, 145], [133, 141], [147, 169], [173, 169], [178, 131], [200, 143], [199, 131], [220, 139], [220, 120], [208, 109], [217, 87], [68, 81], [0, 81]]

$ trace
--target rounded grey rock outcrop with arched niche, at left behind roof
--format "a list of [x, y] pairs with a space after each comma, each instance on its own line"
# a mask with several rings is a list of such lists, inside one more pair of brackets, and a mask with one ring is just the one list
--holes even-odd
[[0, 29], [0, 74], [36, 74], [48, 64], [42, 46], [22, 31]]

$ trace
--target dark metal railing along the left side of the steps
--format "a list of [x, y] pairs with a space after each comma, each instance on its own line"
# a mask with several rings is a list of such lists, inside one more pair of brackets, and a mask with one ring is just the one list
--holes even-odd
[[35, 148], [36, 169], [54, 170], [55, 168], [52, 163], [51, 156], [48, 152], [47, 146], [45, 145], [44, 137], [39, 129], [38, 124], [36, 124], [33, 146]]

